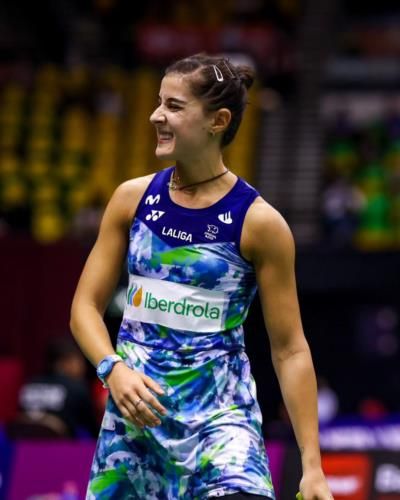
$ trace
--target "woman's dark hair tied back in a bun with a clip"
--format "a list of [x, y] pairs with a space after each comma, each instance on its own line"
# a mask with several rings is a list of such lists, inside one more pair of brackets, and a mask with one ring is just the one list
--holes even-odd
[[227, 108], [232, 114], [221, 146], [230, 144], [242, 121], [247, 105], [247, 90], [254, 81], [250, 66], [236, 66], [228, 59], [207, 54], [195, 54], [168, 66], [165, 74], [192, 75], [189, 79], [192, 94], [201, 99], [206, 112]]

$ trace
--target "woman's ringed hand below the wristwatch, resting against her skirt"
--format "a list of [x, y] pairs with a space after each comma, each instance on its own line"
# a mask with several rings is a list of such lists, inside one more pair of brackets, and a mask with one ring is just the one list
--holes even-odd
[[116, 363], [107, 377], [111, 395], [122, 415], [137, 427], [155, 427], [161, 420], [154, 413], [166, 415], [167, 410], [149, 389], [156, 394], [164, 394], [163, 389], [153, 379], [139, 371], [132, 370], [125, 363]]

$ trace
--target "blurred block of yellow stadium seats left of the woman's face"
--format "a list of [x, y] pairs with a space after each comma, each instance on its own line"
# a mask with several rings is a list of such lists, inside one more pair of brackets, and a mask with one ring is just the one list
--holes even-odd
[[[128, 177], [131, 157], [138, 165], [147, 160], [146, 151], [138, 158], [127, 148], [130, 135], [142, 138], [133, 131], [134, 100], [143, 97], [146, 82], [154, 86], [152, 77], [112, 67], [94, 74], [85, 67], [63, 71], [43, 65], [28, 81], [2, 87], [3, 233], [26, 232], [51, 242], [71, 230], [78, 236], [97, 232], [101, 209]], [[140, 147], [146, 147], [144, 137]]]

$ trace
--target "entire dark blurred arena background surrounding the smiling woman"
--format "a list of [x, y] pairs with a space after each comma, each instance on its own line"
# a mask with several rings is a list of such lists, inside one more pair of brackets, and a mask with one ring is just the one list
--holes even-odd
[[[225, 162], [296, 240], [335, 498], [399, 500], [400, 5], [389, 0], [0, 1], [0, 498], [83, 495], [73, 454], [90, 464], [106, 391], [67, 346], [72, 295], [115, 187], [166, 166], [149, 123], [163, 69], [201, 51], [257, 71]], [[124, 283], [106, 314], [114, 340]], [[54, 367], [58, 340], [69, 361]], [[258, 299], [246, 342], [286, 500], [298, 457]], [[51, 391], [75, 397], [72, 379], [95, 423], [38, 429], [38, 415], [65, 417]], [[70, 465], [22, 491], [38, 438]]]

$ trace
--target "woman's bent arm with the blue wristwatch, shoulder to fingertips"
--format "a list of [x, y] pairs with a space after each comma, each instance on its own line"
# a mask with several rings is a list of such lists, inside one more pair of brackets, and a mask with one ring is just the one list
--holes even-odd
[[[127, 181], [114, 192], [73, 298], [71, 331], [94, 366], [104, 357], [115, 354], [103, 317], [121, 274], [129, 226], [149, 181], [150, 177]], [[160, 413], [165, 413], [165, 408], [148, 388], [158, 394], [163, 391], [150, 377], [131, 370], [125, 363], [116, 363], [107, 382], [125, 418], [140, 427], [160, 423], [150, 407]], [[140, 411], [135, 406], [139, 399], [146, 403], [140, 405]]]

